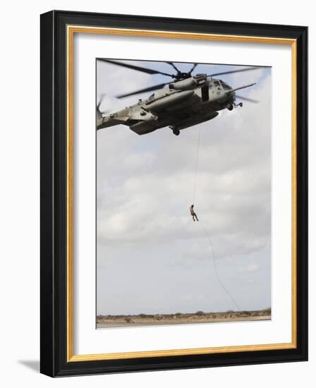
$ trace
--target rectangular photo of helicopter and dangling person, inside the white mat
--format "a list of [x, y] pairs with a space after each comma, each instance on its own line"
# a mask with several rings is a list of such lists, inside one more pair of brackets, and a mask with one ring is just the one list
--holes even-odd
[[272, 319], [272, 71], [96, 59], [97, 329]]

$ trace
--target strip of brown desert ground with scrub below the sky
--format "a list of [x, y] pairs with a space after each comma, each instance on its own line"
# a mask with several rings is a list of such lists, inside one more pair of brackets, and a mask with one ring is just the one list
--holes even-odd
[[271, 320], [271, 308], [254, 311], [226, 311], [220, 313], [176, 313], [138, 315], [98, 315], [97, 329], [108, 327], [138, 327], [155, 325], [186, 325], [188, 323], [240, 322]]

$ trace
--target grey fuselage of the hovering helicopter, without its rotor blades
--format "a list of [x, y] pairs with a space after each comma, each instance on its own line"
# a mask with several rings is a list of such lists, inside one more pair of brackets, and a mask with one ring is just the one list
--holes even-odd
[[[222, 80], [207, 78], [204, 74], [178, 80], [158, 90], [145, 100], [109, 116], [97, 116], [97, 129], [123, 124], [145, 135], [169, 126], [175, 135], [184, 128], [209, 121], [223, 109], [242, 106], [235, 103], [235, 90]], [[99, 112], [98, 112], [99, 113]]]

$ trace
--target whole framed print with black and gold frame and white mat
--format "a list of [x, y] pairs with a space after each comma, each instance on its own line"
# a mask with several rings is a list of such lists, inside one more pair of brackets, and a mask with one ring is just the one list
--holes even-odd
[[308, 358], [305, 27], [41, 16], [41, 372]]

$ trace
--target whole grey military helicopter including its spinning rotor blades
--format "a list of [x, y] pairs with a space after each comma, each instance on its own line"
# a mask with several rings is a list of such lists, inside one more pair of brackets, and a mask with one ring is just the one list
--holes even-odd
[[[231, 87], [224, 80], [214, 77], [253, 71], [258, 67], [247, 67], [209, 75], [204, 73], [193, 75], [193, 71], [198, 66], [197, 63], [193, 64], [190, 71], [184, 73], [173, 62], [165, 62], [176, 71], [172, 74], [112, 59], [99, 58], [98, 60], [141, 71], [142, 73], [165, 75], [173, 78], [173, 80], [171, 83], [160, 83], [159, 85], [116, 96], [120, 99], [157, 90], [147, 99], [139, 99], [136, 104], [109, 115], [104, 115], [104, 112], [100, 111], [101, 102], [99, 102], [97, 104], [97, 130], [123, 124], [138, 135], [145, 135], [168, 126], [174, 135], [179, 135], [180, 131], [185, 128], [215, 119], [219, 115], [219, 111], [223, 109], [232, 111], [237, 107], [243, 107], [242, 102], [236, 104], [236, 97], [249, 102], [257, 102], [254, 99], [236, 95], [237, 90], [251, 87], [255, 83]], [[166, 85], [167, 87], [165, 87]]]

